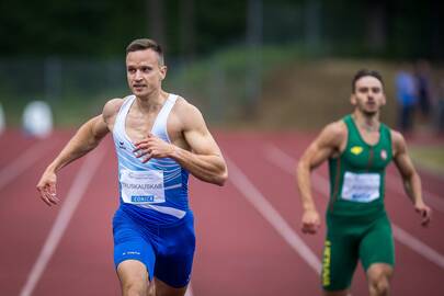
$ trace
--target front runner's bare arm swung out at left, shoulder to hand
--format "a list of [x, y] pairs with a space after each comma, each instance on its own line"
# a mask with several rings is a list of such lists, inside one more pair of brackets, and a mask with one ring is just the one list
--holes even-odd
[[100, 144], [110, 132], [110, 126], [112, 126], [112, 122], [121, 104], [122, 100], [119, 99], [109, 101], [103, 109], [103, 113], [84, 123], [60, 153], [46, 168], [38, 181], [37, 190], [42, 200], [47, 205], [50, 206], [58, 202], [56, 197], [57, 172], [68, 163], [84, 156]]

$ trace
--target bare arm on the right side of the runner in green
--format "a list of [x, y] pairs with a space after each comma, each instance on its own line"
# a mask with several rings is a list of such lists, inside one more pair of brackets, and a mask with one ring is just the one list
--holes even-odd
[[402, 177], [405, 191], [412, 201], [414, 209], [421, 215], [423, 226], [430, 223], [431, 209], [422, 198], [421, 179], [414, 169], [413, 162], [407, 153], [407, 144], [398, 132], [391, 133], [394, 141], [394, 161]]

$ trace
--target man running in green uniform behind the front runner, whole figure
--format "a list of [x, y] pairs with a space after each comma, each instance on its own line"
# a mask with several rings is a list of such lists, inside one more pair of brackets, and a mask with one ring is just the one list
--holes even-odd
[[310, 172], [328, 159], [331, 186], [321, 272], [325, 295], [349, 294], [358, 260], [367, 275], [369, 295], [388, 295], [395, 254], [384, 207], [384, 180], [391, 160], [423, 226], [430, 223], [431, 210], [422, 200], [421, 180], [402, 135], [379, 122], [386, 98], [377, 71], [361, 70], [354, 76], [351, 103], [353, 113], [327, 125], [299, 161], [303, 231], [316, 234], [320, 226]]

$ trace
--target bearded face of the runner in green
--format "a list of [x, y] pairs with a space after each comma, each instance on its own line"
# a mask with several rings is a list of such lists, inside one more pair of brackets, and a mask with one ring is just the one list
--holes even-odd
[[352, 104], [365, 115], [374, 115], [386, 104], [383, 83], [372, 76], [364, 76], [355, 82]]

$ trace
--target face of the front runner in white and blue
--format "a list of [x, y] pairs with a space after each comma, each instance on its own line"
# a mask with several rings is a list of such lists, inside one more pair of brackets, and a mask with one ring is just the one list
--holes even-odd
[[167, 67], [159, 65], [159, 55], [152, 49], [130, 52], [126, 55], [126, 77], [133, 93], [149, 96], [161, 88]]

